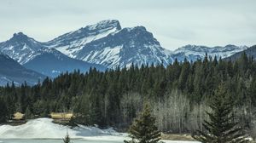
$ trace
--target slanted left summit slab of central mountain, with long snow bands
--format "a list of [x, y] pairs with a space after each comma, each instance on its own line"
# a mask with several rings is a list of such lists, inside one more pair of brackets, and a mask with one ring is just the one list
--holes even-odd
[[63, 54], [75, 58], [76, 53], [84, 47], [86, 43], [108, 36], [114, 31], [119, 31], [121, 26], [118, 20], [102, 20], [96, 25], [85, 26], [78, 31], [68, 32], [60, 37], [44, 43], [49, 48], [55, 48]]

